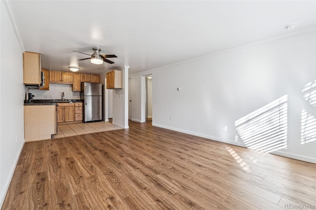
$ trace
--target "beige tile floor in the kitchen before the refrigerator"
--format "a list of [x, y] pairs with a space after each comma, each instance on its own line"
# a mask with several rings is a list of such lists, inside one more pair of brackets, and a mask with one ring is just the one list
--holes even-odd
[[81, 134], [89, 134], [103, 131], [111, 131], [122, 129], [112, 125], [111, 122], [90, 122], [90, 123], [71, 123], [58, 125], [57, 134], [53, 135], [53, 139], [77, 136]]

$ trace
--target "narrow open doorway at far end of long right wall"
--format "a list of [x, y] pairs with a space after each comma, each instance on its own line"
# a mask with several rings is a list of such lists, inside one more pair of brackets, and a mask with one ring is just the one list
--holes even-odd
[[146, 102], [145, 102], [145, 119], [146, 122], [153, 121], [153, 75], [145, 77]]

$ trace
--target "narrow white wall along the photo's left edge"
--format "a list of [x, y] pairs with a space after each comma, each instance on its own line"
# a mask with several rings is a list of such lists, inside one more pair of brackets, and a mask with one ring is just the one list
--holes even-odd
[[0, 207], [24, 144], [23, 60], [8, 13], [0, 2]]

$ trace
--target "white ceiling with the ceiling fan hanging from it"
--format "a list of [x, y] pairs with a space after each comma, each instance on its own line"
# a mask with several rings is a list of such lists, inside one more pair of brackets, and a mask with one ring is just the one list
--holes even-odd
[[[130, 74], [316, 27], [316, 1], [10, 1], [42, 68]], [[297, 24], [291, 31], [286, 25]], [[115, 64], [78, 61], [100, 47]]]

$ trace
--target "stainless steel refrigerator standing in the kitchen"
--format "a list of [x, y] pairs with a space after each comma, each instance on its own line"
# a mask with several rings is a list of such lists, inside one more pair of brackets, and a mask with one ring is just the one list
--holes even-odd
[[81, 82], [80, 99], [83, 100], [83, 122], [102, 120], [102, 84]]

